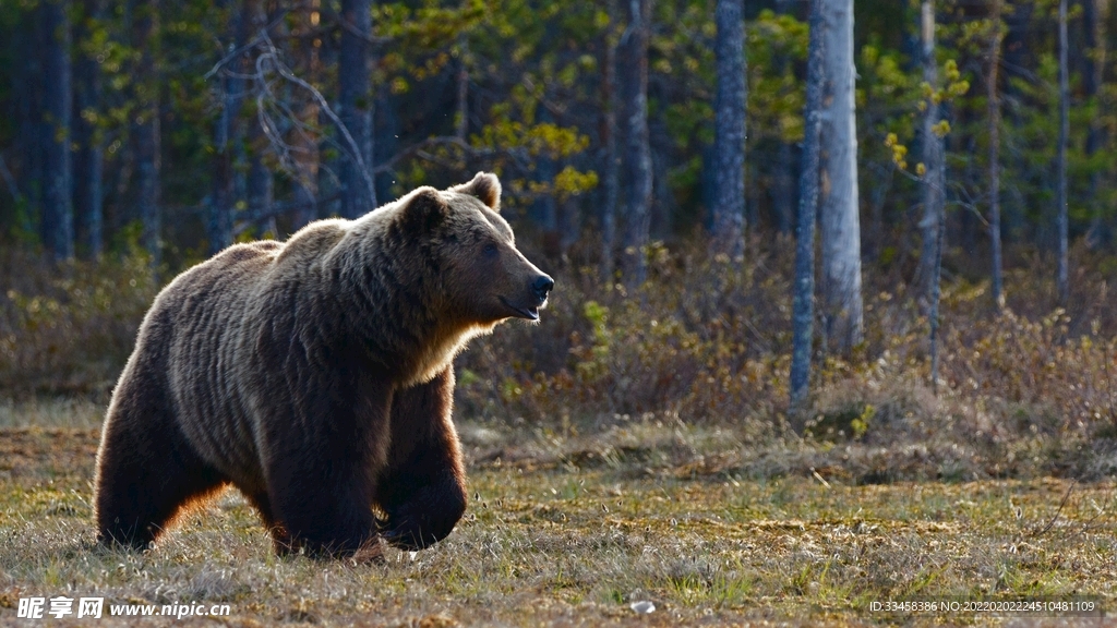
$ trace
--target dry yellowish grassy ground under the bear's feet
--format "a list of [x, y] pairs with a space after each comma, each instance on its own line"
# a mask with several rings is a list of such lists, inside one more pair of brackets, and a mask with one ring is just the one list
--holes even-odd
[[[106, 608], [227, 603], [227, 626], [1054, 622], [872, 610], [1004, 596], [1117, 608], [1111, 482], [757, 477], [468, 421], [469, 510], [431, 550], [388, 550], [381, 565], [280, 559], [229, 491], [151, 552], [107, 551], [93, 543], [89, 505], [99, 410], [28, 408], [0, 406], [0, 625], [23, 625], [21, 597], [59, 594], [104, 596]], [[638, 615], [639, 601], [655, 611]], [[172, 624], [214, 625], [144, 622]]]

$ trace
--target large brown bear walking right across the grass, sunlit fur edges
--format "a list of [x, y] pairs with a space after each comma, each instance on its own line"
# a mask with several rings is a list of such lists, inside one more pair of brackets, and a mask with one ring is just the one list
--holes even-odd
[[179, 275], [113, 391], [98, 539], [146, 548], [228, 484], [280, 553], [375, 558], [380, 537], [446, 537], [466, 508], [451, 361], [502, 321], [537, 321], [554, 287], [499, 198], [478, 173]]

